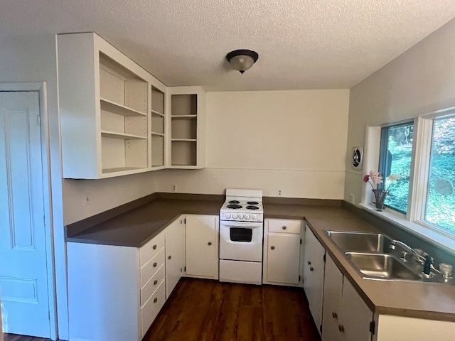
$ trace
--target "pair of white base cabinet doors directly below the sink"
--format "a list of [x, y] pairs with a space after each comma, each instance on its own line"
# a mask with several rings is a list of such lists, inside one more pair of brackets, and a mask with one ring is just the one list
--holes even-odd
[[373, 313], [330, 256], [326, 257], [323, 341], [370, 341]]

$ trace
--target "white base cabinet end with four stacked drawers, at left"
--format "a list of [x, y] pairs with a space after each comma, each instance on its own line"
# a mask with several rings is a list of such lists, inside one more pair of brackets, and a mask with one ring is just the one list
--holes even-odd
[[164, 232], [141, 248], [68, 242], [70, 340], [141, 340], [166, 301]]

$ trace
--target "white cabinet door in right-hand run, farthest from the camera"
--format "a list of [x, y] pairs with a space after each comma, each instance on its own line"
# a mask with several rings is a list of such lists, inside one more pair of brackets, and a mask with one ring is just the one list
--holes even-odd
[[[305, 228], [304, 290], [316, 327], [322, 323], [322, 297], [324, 287], [324, 255], [326, 250], [309, 227]], [[321, 330], [321, 329], [319, 329]]]

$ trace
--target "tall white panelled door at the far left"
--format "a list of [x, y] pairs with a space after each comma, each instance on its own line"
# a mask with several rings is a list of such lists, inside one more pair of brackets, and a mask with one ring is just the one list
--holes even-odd
[[0, 92], [4, 332], [50, 337], [38, 92]]

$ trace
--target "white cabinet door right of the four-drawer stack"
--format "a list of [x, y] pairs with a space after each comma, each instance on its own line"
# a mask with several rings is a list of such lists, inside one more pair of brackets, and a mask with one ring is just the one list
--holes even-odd
[[185, 267], [185, 225], [183, 217], [166, 227], [166, 298], [183, 275]]

